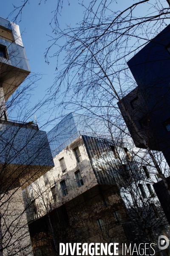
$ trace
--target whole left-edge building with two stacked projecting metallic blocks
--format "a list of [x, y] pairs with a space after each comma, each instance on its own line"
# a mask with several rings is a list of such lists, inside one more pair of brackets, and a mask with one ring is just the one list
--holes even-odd
[[0, 250], [4, 255], [31, 254], [21, 188], [54, 166], [46, 132], [8, 118], [6, 101], [14, 96], [9, 105], [14, 104], [14, 92], [29, 73], [19, 26], [0, 17]]

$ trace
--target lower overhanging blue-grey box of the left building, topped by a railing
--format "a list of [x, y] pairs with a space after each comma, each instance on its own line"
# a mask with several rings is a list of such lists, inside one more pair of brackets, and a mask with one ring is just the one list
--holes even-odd
[[37, 125], [0, 119], [1, 191], [24, 189], [53, 167], [45, 131]]

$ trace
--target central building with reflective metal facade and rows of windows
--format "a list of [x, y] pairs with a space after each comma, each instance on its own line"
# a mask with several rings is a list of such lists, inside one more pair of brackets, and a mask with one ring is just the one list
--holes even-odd
[[54, 255], [59, 242], [113, 241], [152, 241], [160, 255], [158, 234], [168, 236], [169, 227], [153, 189], [159, 177], [145, 151], [128, 140], [99, 138], [90, 128], [78, 131], [78, 125], [71, 113], [56, 126], [60, 139], [64, 131], [56, 148], [48, 133], [55, 166], [23, 190], [34, 255]]

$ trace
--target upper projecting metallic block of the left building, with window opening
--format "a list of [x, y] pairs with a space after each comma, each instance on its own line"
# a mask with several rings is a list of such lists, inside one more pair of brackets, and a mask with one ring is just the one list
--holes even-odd
[[[14, 24], [14, 23], [13, 23]], [[12, 26], [0, 17], [0, 82], [7, 100], [30, 73], [26, 52], [20, 37], [19, 26]]]

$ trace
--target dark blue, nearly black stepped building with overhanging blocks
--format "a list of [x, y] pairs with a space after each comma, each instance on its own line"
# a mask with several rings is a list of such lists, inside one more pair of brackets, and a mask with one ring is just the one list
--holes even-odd
[[[162, 151], [170, 166], [170, 25], [127, 62], [137, 87], [123, 99], [150, 149]], [[118, 102], [135, 145], [144, 148]]]

